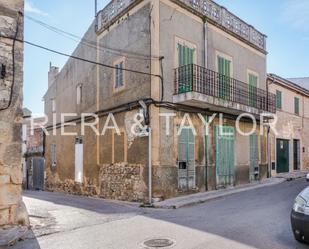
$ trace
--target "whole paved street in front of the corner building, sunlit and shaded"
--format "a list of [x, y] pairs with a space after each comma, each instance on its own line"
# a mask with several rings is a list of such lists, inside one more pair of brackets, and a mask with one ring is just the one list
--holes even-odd
[[307, 248], [296, 242], [289, 214], [304, 179], [176, 210], [48, 192], [26, 192], [36, 240], [13, 248], [143, 248], [169, 238], [172, 248]]

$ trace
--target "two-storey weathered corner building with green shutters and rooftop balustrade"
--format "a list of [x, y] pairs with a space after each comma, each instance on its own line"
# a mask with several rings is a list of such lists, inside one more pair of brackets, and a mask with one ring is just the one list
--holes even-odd
[[[260, 114], [275, 112], [275, 96], [266, 91], [266, 36], [224, 7], [210, 0], [114, 0], [73, 55], [100, 64], [71, 58], [61, 71], [50, 68], [47, 189], [139, 201], [149, 192], [169, 198], [269, 175], [267, 129], [260, 127]], [[150, 148], [147, 136], [131, 130], [140, 112], [152, 129]], [[236, 132], [244, 112], [257, 119], [241, 119], [251, 136]], [[99, 124], [84, 134], [79, 122], [66, 125], [76, 134], [62, 136], [61, 113], [77, 113], [66, 120], [97, 113]], [[112, 121], [108, 113], [120, 134], [96, 136], [93, 128], [101, 132]], [[212, 121], [209, 134], [205, 119]]]

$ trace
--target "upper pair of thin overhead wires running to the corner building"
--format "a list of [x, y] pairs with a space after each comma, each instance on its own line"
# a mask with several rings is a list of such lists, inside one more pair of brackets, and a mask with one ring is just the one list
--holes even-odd
[[[126, 51], [126, 50], [121, 50], [121, 49], [116, 49], [116, 48], [111, 48], [111, 47], [107, 47], [107, 46], [103, 46], [103, 45], [97, 45], [96, 42], [93, 42], [91, 40], [88, 40], [86, 38], [82, 38], [80, 36], [77, 36], [75, 34], [72, 34], [68, 31], [64, 31], [62, 29], [59, 29], [57, 27], [54, 27], [54, 26], [51, 26], [43, 21], [40, 21], [40, 20], [37, 20], [33, 17], [30, 17], [28, 15], [25, 15], [25, 17], [29, 20], [31, 20], [32, 22], [52, 31], [52, 32], [55, 32], [61, 36], [64, 36], [68, 39], [71, 39], [75, 42], [78, 42], [78, 43], [81, 43], [87, 47], [90, 47], [90, 48], [93, 48], [93, 49], [98, 49], [102, 52], [108, 52], [108, 53], [111, 53], [111, 54], [116, 54], [116, 55], [125, 55], [126, 57], [128, 58], [135, 58], [135, 59], [139, 59], [139, 60], [158, 60], [160, 59], [160, 56], [148, 56], [148, 55], [144, 55], [144, 54], [139, 54], [139, 53], [132, 53], [130, 51]], [[108, 50], [108, 51], [106, 51]]]

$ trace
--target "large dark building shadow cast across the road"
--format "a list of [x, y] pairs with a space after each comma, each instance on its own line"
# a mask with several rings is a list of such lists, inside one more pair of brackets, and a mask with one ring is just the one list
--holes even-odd
[[138, 204], [51, 192], [26, 191], [24, 196], [99, 214], [136, 213], [218, 235], [249, 248], [302, 249], [308, 246], [294, 240], [290, 212], [294, 198], [306, 186], [305, 180], [284, 182], [176, 210], [141, 209]]

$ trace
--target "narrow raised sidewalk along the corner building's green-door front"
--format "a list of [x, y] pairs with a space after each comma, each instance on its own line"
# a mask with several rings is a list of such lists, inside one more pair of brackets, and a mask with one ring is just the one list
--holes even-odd
[[197, 193], [197, 194], [191, 194], [191, 195], [167, 199], [164, 201], [156, 202], [153, 204], [153, 206], [155, 208], [176, 209], [180, 207], [204, 203], [209, 200], [225, 197], [228, 195], [232, 195], [232, 194], [236, 194], [236, 193], [240, 193], [240, 192], [244, 192], [244, 191], [248, 191], [252, 189], [258, 189], [258, 188], [262, 188], [266, 186], [280, 184], [288, 180], [304, 178], [306, 174], [307, 172], [293, 172], [293, 173], [287, 173], [287, 174], [280, 174], [276, 177], [268, 178], [258, 183], [250, 183], [250, 184], [239, 185], [236, 187], [230, 187], [226, 189], [213, 190], [209, 192], [203, 192], [203, 193]]

